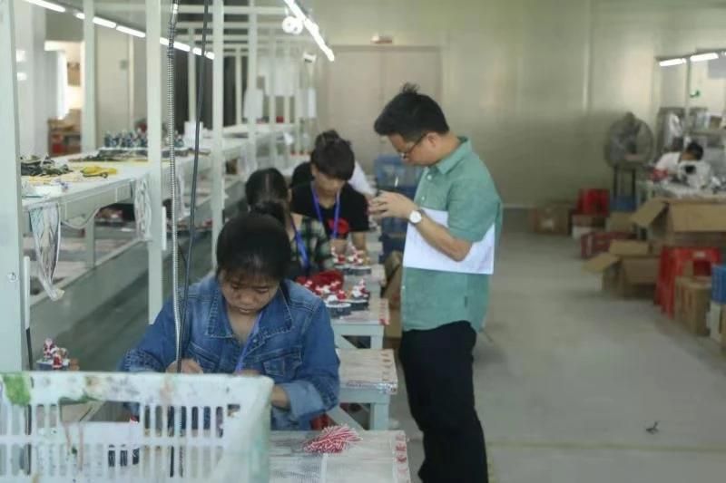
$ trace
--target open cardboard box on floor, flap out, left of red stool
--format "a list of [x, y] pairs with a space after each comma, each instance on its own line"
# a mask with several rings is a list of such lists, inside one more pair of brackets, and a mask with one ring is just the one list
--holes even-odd
[[660, 259], [647, 242], [614, 240], [608, 253], [595, 256], [584, 269], [603, 276], [603, 292], [623, 298], [652, 298]]

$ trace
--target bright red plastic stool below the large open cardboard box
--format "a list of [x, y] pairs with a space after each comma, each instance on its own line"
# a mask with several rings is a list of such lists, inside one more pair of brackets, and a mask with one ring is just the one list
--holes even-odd
[[714, 265], [721, 264], [719, 248], [663, 248], [655, 287], [655, 303], [671, 318], [675, 310], [675, 279], [686, 275], [686, 268], [692, 266], [691, 275], [709, 276]]

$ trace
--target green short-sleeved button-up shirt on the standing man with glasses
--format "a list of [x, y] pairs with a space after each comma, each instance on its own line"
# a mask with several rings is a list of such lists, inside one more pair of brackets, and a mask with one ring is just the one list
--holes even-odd
[[[476, 243], [492, 225], [497, 238], [501, 232], [502, 202], [494, 180], [466, 138], [446, 159], [424, 170], [415, 201], [421, 208], [446, 211], [453, 237]], [[466, 321], [479, 332], [489, 305], [489, 275], [404, 267], [401, 301], [404, 331]]]

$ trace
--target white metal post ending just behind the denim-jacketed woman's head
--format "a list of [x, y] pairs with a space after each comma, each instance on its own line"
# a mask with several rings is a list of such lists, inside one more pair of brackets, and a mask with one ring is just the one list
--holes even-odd
[[216, 265], [217, 237], [221, 232], [223, 223], [222, 211], [224, 209], [224, 141], [222, 129], [224, 128], [224, 1], [214, 0], [212, 4], [212, 31], [214, 33], [213, 49], [214, 61], [212, 63], [212, 129], [214, 130], [214, 143], [211, 165], [211, 265]]

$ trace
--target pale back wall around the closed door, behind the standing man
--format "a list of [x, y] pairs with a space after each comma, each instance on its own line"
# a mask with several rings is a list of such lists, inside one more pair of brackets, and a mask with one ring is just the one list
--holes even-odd
[[[608, 187], [602, 153], [610, 123], [633, 111], [652, 124], [662, 103], [682, 103], [684, 85], [662, 81], [653, 58], [726, 46], [722, 0], [306, 5], [334, 46], [369, 44], [376, 33], [392, 34], [397, 45], [440, 45], [449, 121], [471, 136], [505, 202], [515, 205]], [[699, 83], [705, 100], [695, 104], [721, 111], [724, 82], [700, 76]]]

